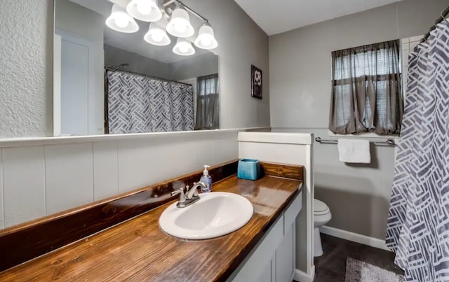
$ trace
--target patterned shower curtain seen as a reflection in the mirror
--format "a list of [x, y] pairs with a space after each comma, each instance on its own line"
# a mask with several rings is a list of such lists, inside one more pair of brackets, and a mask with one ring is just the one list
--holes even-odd
[[109, 71], [110, 134], [194, 130], [192, 85]]

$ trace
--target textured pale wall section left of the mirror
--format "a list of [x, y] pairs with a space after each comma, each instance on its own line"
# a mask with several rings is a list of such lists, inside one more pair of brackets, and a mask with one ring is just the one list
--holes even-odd
[[0, 1], [0, 138], [51, 136], [53, 1]]

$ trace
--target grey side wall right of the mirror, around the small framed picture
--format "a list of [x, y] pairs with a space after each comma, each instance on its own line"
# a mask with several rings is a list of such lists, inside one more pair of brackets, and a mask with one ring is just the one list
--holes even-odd
[[[231, 0], [187, 0], [207, 17], [220, 56], [220, 128], [269, 126], [268, 36]], [[250, 69], [263, 71], [263, 99], [250, 95]]]

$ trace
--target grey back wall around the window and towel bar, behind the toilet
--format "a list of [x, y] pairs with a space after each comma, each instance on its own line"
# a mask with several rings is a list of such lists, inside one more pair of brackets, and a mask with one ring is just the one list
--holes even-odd
[[[270, 36], [273, 130], [329, 138], [330, 52], [424, 34], [447, 6], [447, 0], [400, 1]], [[330, 207], [329, 226], [384, 239], [394, 148], [373, 146], [372, 157], [370, 166], [349, 166], [338, 161], [337, 146], [315, 143], [315, 197]]]

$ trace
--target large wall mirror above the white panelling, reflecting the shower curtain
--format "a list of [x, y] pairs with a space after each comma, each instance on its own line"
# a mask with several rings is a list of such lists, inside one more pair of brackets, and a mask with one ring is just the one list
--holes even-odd
[[[55, 0], [55, 136], [219, 128], [213, 29], [181, 4]], [[185, 15], [194, 35], [188, 24], [172, 26]]]

